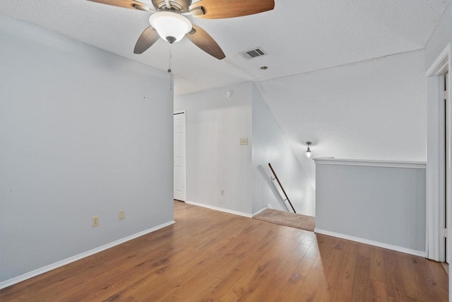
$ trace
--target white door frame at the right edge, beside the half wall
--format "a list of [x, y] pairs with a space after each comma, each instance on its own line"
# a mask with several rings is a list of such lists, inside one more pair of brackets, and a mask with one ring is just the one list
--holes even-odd
[[[447, 212], [444, 204], [451, 204], [451, 194], [445, 200], [444, 192], [451, 186], [451, 161], [446, 167], [444, 131], [444, 74], [451, 71], [451, 43], [439, 54], [432, 66], [426, 72], [427, 80], [427, 169], [426, 169], [426, 242], [425, 254], [428, 259], [444, 262], [446, 260], [444, 243], [444, 219], [447, 221], [447, 234], [451, 238], [451, 207]], [[450, 76], [449, 76], [450, 81]], [[449, 83], [449, 86], [450, 83]], [[451, 89], [448, 91], [448, 100], [451, 100]], [[450, 108], [450, 106], [449, 106]], [[446, 112], [451, 121], [451, 109]], [[449, 123], [448, 133], [451, 132]], [[449, 139], [449, 142], [451, 140]], [[450, 150], [451, 146], [448, 146]], [[446, 168], [446, 170], [444, 170]], [[446, 175], [447, 184], [444, 182]], [[448, 259], [451, 259], [451, 240], [448, 240]]]

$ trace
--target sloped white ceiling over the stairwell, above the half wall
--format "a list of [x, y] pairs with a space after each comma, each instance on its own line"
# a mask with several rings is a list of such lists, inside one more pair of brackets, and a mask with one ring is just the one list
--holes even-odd
[[425, 161], [424, 52], [418, 50], [257, 83], [299, 164], [313, 158]]

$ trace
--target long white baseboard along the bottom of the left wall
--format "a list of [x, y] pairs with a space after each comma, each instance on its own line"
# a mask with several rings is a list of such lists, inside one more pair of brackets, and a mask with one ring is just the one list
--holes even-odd
[[32, 277], [36, 277], [37, 275], [44, 274], [44, 272], [49, 272], [52, 269], [57, 269], [58, 267], [62, 267], [64, 265], [69, 265], [69, 263], [71, 263], [71, 262], [75, 262], [77, 260], [81, 260], [81, 259], [83, 259], [85, 257], [90, 256], [90, 255], [94, 255], [97, 252], [102, 252], [102, 250], [107, 250], [109, 248], [113, 248], [116, 245], [120, 245], [121, 243], [125, 243], [125, 242], [127, 242], [129, 240], [141, 237], [141, 236], [146, 235], [148, 233], [152, 233], [154, 231], [159, 230], [160, 228], [165, 228], [166, 226], [171, 226], [174, 223], [176, 223], [176, 221], [174, 221], [174, 220], [168, 221], [167, 223], [162, 223], [162, 224], [160, 224], [158, 226], [154, 226], [153, 228], [148, 228], [147, 230], [135, 233], [135, 234], [133, 234], [131, 236], [127, 236], [127, 237], [115, 240], [115, 241], [113, 241], [111, 243], [107, 243], [105, 245], [101, 245], [98, 248], [93, 248], [93, 250], [87, 250], [86, 252], [81, 252], [78, 255], [66, 258], [64, 260], [60, 260], [58, 262], [54, 262], [51, 265], [46, 265], [45, 267], [41, 267], [40, 269], [35, 269], [35, 270], [31, 271], [31, 272], [28, 272], [28, 273], [25, 273], [25, 274], [21, 274], [18, 277], [14, 277], [14, 278], [2, 281], [2, 282], [0, 282], [0, 289], [4, 289], [4, 288], [6, 288], [8, 286], [11, 286], [13, 284], [19, 283], [21, 281], [25, 281], [26, 279], [30, 279]]

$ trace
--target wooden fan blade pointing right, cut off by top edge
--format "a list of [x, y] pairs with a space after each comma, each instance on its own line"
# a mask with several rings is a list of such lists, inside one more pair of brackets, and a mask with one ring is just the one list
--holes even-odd
[[222, 19], [263, 13], [275, 8], [274, 0], [200, 0], [190, 6], [190, 10], [202, 6], [204, 14], [198, 18]]

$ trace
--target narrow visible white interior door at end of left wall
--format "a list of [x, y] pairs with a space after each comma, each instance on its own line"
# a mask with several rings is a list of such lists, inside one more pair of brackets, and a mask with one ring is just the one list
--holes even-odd
[[185, 202], [185, 110], [174, 112], [174, 199]]

